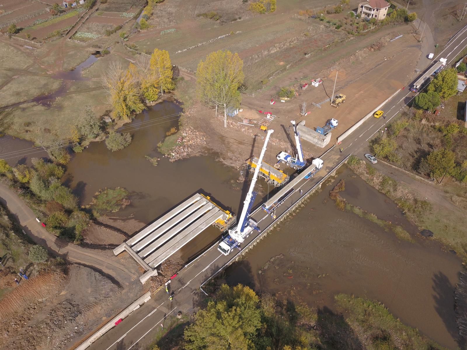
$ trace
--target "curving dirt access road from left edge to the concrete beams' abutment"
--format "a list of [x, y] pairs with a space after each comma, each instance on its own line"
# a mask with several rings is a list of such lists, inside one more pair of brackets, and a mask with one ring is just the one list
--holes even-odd
[[36, 244], [45, 246], [52, 254], [103, 273], [109, 279], [117, 281], [122, 287], [137, 280], [137, 266], [133, 261], [114, 257], [113, 254], [106, 255], [106, 252], [92, 251], [78, 245], [72, 245], [52, 235], [36, 221], [33, 211], [4, 184], [0, 184], [0, 197], [1, 203], [7, 205], [8, 210], [14, 215], [26, 234]]

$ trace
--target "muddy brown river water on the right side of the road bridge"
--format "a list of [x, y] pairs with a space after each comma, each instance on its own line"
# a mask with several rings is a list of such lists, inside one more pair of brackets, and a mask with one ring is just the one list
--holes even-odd
[[[350, 170], [341, 192], [349, 203], [415, 228], [397, 205], [356, 178]], [[333, 306], [333, 295], [354, 294], [381, 301], [402, 322], [418, 328], [441, 345], [456, 348], [454, 286], [461, 261], [432, 241], [415, 237], [400, 241], [394, 233], [349, 212], [336, 209], [329, 200], [330, 186], [296, 216], [290, 217], [263, 239], [247, 258], [226, 271], [227, 282], [252, 285], [272, 293], [296, 293], [316, 308]], [[263, 266], [269, 259], [280, 256]], [[263, 274], [258, 273], [263, 269]]]

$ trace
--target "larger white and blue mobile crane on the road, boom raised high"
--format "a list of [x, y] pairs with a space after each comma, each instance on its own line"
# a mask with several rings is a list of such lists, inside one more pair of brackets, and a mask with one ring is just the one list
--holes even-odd
[[219, 252], [221, 252], [224, 255], [229, 255], [235, 247], [240, 248], [240, 243], [243, 243], [243, 241], [246, 237], [248, 237], [251, 231], [255, 229], [258, 230], [256, 222], [252, 219], [249, 219], [248, 217], [250, 215], [251, 208], [253, 207], [253, 203], [255, 202], [256, 198], [256, 192], [254, 191], [256, 180], [258, 179], [262, 160], [264, 158], [264, 154], [266, 153], [266, 148], [268, 146], [269, 138], [273, 132], [274, 130], [269, 129], [266, 135], [266, 139], [264, 140], [264, 145], [262, 147], [261, 154], [255, 168], [255, 173], [253, 174], [253, 179], [251, 180], [250, 188], [248, 189], [247, 196], [245, 197], [245, 201], [243, 202], [243, 209], [241, 210], [241, 215], [238, 220], [238, 224], [233, 229], [229, 230], [227, 236], [219, 242], [219, 245], [217, 247]]

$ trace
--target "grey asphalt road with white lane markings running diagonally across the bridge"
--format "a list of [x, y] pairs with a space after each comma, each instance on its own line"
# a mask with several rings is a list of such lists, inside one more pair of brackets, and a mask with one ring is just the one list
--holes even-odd
[[[434, 63], [440, 57], [447, 58], [447, 64], [453, 63], [456, 56], [467, 46], [467, 27], [462, 29], [453, 37], [445, 46], [443, 51], [436, 56], [432, 62]], [[422, 48], [425, 49], [425, 48]], [[433, 51], [433, 48], [427, 47], [428, 55]], [[427, 69], [428, 67], [426, 67]], [[425, 69], [425, 70], [426, 70]], [[414, 79], [417, 80], [418, 77]], [[330, 152], [322, 157], [324, 168], [321, 169], [311, 179], [303, 180], [294, 188], [295, 192], [287, 199], [285, 203], [276, 209], [276, 217], [279, 217], [290, 205], [300, 199], [299, 189], [303, 189], [305, 194], [312, 186], [327, 174], [329, 170], [334, 168], [348, 154], [363, 155], [363, 149], [368, 146], [368, 140], [375, 133], [381, 132], [385, 125], [391, 121], [405, 105], [407, 105], [417, 94], [410, 92], [410, 86], [399, 91], [390, 101], [388, 101], [382, 110], [386, 113], [386, 119], [370, 118], [363, 123], [357, 130], [351, 133], [339, 147], [344, 148], [341, 154], [338, 147], [334, 147]], [[371, 110], [374, 106], [369, 106]], [[363, 117], [363, 116], [362, 116]], [[252, 217], [256, 220], [260, 229], [264, 229], [272, 223], [269, 214], [263, 210], [255, 210]], [[256, 231], [253, 231], [256, 232]], [[250, 234], [242, 246], [246, 246], [253, 240], [257, 233]], [[102, 336], [98, 341], [92, 344], [90, 349], [93, 350], [142, 350], [151, 343], [151, 340], [156, 335], [156, 331], [162, 327], [168, 327], [170, 322], [176, 322], [175, 315], [178, 311], [187, 313], [193, 307], [198, 305], [199, 300], [202, 300], [205, 295], [199, 289], [200, 285], [207, 280], [213, 273], [216, 273], [220, 266], [226, 264], [233, 258], [233, 253], [229, 256], [220, 254], [213, 246], [203, 255], [198, 257], [190, 266], [184, 268], [177, 277], [172, 280], [171, 292], [174, 292], [173, 301], [169, 300], [169, 295], [164, 290], [160, 290], [153, 299], [137, 309], [132, 315], [123, 320], [117, 327], [113, 328]]]

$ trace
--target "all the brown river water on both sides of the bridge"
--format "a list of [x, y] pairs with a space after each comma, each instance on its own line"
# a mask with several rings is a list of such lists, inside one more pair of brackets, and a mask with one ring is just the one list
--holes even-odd
[[[175, 118], [164, 116], [180, 111], [172, 102], [157, 104], [122, 130], [133, 136], [128, 147], [111, 152], [104, 142], [93, 142], [83, 153], [74, 154], [64, 181], [80, 197], [81, 204], [89, 203], [99, 189], [121, 186], [132, 194], [132, 203], [112, 216], [136, 219], [143, 224], [149, 224], [198, 191], [238, 213], [246, 186], [237, 182], [238, 170], [216, 161], [215, 156], [174, 163], [162, 158], [156, 167], [145, 160], [146, 154], [162, 156], [156, 150], [157, 143], [178, 123]], [[0, 138], [1, 154], [31, 146], [25, 140]], [[46, 153], [21, 155], [8, 161], [11, 165], [30, 163], [31, 156]], [[349, 203], [403, 225], [415, 237], [416, 228], [407, 222], [395, 203], [349, 170], [342, 171], [339, 177], [346, 179], [342, 196]], [[302, 300], [317, 308], [332, 308], [333, 295], [337, 293], [376, 299], [404, 323], [446, 347], [455, 348], [453, 290], [461, 270], [460, 259], [443, 252], [436, 242], [417, 237], [416, 243], [400, 241], [392, 232], [368, 220], [337, 210], [333, 201], [328, 200], [335, 183], [323, 186], [322, 192], [313, 196], [296, 216], [280, 225], [280, 231], [273, 231], [248, 253], [247, 259], [229, 267], [227, 281], [272, 293], [289, 293], [293, 289]], [[257, 182], [259, 185], [267, 188], [262, 180]], [[185, 245], [182, 259], [193, 258], [218, 237], [219, 231], [210, 227]], [[273, 261], [263, 274], [258, 273], [270, 258], [279, 254], [284, 257]]]

